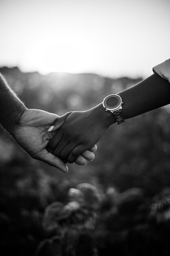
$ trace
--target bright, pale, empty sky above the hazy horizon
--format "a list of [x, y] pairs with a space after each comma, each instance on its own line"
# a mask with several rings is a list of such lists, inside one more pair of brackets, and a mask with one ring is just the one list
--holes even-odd
[[0, 0], [0, 66], [143, 76], [170, 58], [170, 0]]

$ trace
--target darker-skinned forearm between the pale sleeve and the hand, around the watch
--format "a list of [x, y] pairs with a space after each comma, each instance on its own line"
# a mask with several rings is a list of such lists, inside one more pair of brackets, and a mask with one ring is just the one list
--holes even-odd
[[[153, 74], [137, 85], [117, 94], [121, 96], [123, 101], [122, 111], [124, 119], [129, 119], [169, 104], [170, 83], [158, 74]], [[104, 110], [102, 103], [95, 108], [107, 126], [116, 122], [113, 115]]]

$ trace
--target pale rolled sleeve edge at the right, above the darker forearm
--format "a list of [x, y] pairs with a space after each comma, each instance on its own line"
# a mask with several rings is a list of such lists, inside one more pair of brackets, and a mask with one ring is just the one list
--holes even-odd
[[164, 79], [170, 82], [170, 58], [159, 65], [153, 67], [153, 72], [159, 74]]

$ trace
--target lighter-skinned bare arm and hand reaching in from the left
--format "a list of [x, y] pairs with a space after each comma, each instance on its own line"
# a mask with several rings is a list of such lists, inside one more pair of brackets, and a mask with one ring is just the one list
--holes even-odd
[[[58, 120], [56, 127], [59, 128], [65, 118], [61, 120], [57, 115], [49, 112], [27, 109], [0, 75], [0, 123], [2, 126], [31, 157], [67, 172], [68, 168], [64, 162], [46, 150], [46, 145], [54, 135], [53, 132], [49, 133], [48, 129], [55, 120]], [[95, 151], [95, 147], [91, 151]], [[83, 155], [87, 159], [94, 158], [94, 154], [90, 151], [85, 151]], [[79, 156], [77, 163], [82, 164], [84, 157]]]

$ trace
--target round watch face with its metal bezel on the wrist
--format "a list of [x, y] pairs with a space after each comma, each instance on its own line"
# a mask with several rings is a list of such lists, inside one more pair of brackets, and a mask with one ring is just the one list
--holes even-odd
[[112, 94], [104, 99], [103, 106], [108, 110], [115, 110], [121, 106], [121, 103], [121, 97], [119, 95]]

